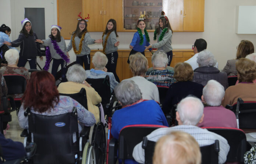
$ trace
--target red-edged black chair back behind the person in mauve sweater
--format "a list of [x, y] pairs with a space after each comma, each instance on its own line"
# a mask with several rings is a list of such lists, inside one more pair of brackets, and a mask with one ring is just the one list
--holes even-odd
[[245, 133], [237, 128], [204, 127], [207, 130], [223, 136], [230, 145], [226, 162], [243, 162], [243, 155], [246, 152]]

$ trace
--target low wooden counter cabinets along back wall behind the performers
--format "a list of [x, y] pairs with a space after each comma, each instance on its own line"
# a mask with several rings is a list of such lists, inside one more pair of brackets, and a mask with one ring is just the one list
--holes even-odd
[[[91, 51], [91, 61], [92, 57], [97, 51], [102, 50], [92, 50]], [[132, 77], [132, 72], [129, 69], [129, 64], [127, 63], [129, 54], [131, 50], [118, 50], [118, 59], [117, 59], [117, 76], [119, 77], [120, 81], [124, 79], [128, 79]], [[171, 67], [174, 67], [178, 62], [184, 62], [191, 58], [194, 54], [193, 50], [173, 50], [173, 60], [171, 62]], [[146, 51], [145, 57], [147, 58], [149, 68], [152, 67], [151, 63], [151, 52]], [[90, 68], [93, 68], [92, 63], [90, 64]]]

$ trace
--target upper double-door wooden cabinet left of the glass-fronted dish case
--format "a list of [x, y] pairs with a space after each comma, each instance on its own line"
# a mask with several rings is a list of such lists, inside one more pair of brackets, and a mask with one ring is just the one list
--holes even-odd
[[[115, 19], [117, 30], [123, 30], [122, 1], [121, 0], [82, 0], [83, 18], [89, 14], [87, 29], [90, 32], [106, 29], [107, 21]], [[118, 14], [117, 14], [118, 13]]]

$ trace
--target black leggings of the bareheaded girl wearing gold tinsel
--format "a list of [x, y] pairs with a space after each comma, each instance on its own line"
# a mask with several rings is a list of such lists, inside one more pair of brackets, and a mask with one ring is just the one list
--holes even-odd
[[107, 68], [107, 72], [112, 72], [115, 76], [115, 80], [120, 83], [120, 80], [117, 76], [117, 73], [115, 72], [116, 68], [117, 68], [117, 59], [118, 59], [118, 52], [112, 52], [110, 54], [106, 54], [108, 62], [106, 65]]

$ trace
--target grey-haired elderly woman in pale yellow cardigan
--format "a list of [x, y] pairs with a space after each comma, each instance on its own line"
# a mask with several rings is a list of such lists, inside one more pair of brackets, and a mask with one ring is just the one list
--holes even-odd
[[72, 65], [68, 68], [66, 77], [68, 79], [65, 83], [60, 83], [58, 91], [63, 94], [78, 93], [81, 88], [85, 88], [87, 97], [87, 107], [96, 118], [96, 123], [100, 121], [99, 107], [96, 105], [102, 101], [100, 95], [85, 81], [86, 73], [83, 67], [79, 64]]

